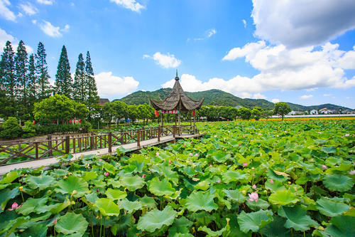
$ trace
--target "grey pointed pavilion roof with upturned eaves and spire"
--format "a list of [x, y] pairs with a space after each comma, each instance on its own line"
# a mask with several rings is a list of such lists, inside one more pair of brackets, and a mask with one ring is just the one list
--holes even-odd
[[175, 77], [175, 84], [173, 90], [163, 101], [151, 100], [151, 105], [155, 110], [181, 110], [191, 111], [199, 109], [202, 106], [204, 98], [201, 100], [192, 100], [189, 98], [179, 83], [178, 72]]

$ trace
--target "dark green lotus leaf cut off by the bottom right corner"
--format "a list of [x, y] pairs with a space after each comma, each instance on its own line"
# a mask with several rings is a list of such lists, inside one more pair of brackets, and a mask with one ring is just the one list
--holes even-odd
[[324, 231], [329, 236], [355, 236], [354, 216], [334, 216], [330, 223]]

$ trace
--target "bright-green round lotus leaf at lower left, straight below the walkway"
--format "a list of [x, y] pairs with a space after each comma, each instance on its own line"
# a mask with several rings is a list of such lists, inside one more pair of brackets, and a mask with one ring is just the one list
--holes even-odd
[[70, 176], [67, 177], [67, 179], [61, 179], [58, 181], [58, 187], [55, 189], [55, 191], [58, 191], [62, 194], [70, 194], [75, 198], [78, 198], [89, 192], [87, 186], [87, 181], [84, 181], [84, 179]]

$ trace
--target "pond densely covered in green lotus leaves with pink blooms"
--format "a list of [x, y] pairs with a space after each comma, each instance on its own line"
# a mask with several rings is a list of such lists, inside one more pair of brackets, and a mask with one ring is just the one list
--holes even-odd
[[0, 180], [0, 236], [355, 236], [355, 122], [221, 122], [201, 139]]

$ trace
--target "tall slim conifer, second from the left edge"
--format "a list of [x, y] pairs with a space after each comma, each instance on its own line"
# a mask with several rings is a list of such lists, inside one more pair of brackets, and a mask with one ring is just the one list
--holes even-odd
[[19, 115], [28, 114], [28, 75], [27, 75], [27, 52], [25, 43], [20, 41], [17, 47], [17, 53], [15, 56], [15, 65], [16, 65], [16, 80], [18, 82], [18, 112]]

